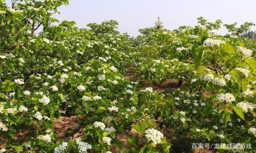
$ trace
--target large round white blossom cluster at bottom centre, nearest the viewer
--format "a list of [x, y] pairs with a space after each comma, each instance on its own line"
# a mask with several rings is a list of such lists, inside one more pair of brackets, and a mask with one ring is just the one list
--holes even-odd
[[161, 139], [163, 138], [163, 133], [161, 133], [160, 131], [152, 128], [152, 129], [147, 129], [145, 133], [146, 133], [145, 135], [146, 138], [148, 138], [148, 140], [152, 140], [154, 144], [161, 143]]

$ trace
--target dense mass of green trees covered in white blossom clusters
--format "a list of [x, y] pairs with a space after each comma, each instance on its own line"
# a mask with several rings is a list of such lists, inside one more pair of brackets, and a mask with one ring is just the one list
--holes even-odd
[[[255, 40], [241, 36], [252, 24], [226, 25], [231, 35], [220, 36], [221, 20], [171, 31], [158, 19], [130, 38], [114, 20], [56, 25], [52, 15], [68, 3], [0, 0], [0, 152], [256, 146]], [[71, 122], [63, 135], [60, 120]]]

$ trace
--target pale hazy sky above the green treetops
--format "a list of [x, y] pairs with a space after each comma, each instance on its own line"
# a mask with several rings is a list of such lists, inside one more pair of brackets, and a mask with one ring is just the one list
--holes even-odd
[[[199, 16], [211, 22], [221, 19], [224, 24], [256, 23], [255, 7], [256, 0], [70, 0], [55, 16], [60, 21], [74, 20], [81, 28], [92, 22], [117, 20], [121, 33], [137, 36], [139, 29], [154, 26], [158, 16], [167, 29], [195, 26]], [[221, 28], [219, 33], [226, 30]]]

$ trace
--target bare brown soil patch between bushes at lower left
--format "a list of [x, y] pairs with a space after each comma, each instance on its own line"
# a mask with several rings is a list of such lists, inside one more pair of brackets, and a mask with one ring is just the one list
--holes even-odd
[[68, 129], [77, 129], [79, 126], [76, 116], [54, 119], [54, 129], [60, 138], [65, 136]]

